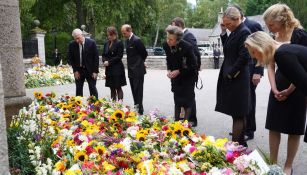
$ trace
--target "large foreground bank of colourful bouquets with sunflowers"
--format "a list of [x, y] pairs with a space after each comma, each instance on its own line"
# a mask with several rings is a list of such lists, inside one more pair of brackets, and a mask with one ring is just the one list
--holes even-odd
[[138, 115], [107, 99], [35, 92], [13, 118], [36, 174], [234, 175], [261, 174], [245, 147], [200, 136], [188, 122], [158, 111]]

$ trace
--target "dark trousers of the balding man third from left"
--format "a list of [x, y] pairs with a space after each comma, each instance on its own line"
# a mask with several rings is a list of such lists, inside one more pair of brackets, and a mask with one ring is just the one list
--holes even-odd
[[130, 87], [132, 91], [134, 105], [138, 107], [139, 114], [143, 114], [143, 86], [144, 86], [144, 76], [142, 77], [132, 77], [129, 78]]

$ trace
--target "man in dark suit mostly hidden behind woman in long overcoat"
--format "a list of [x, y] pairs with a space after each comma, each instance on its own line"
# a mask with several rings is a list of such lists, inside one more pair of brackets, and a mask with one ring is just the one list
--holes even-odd
[[[248, 19], [244, 16], [244, 13], [240, 6], [233, 5], [240, 11], [241, 18], [245, 26], [251, 31], [251, 33], [257, 31], [263, 31], [261, 25], [253, 20]], [[263, 67], [256, 66], [257, 61], [252, 59], [249, 63], [249, 72], [250, 72], [250, 92], [251, 92], [251, 109], [249, 114], [246, 116], [246, 128], [245, 128], [245, 140], [251, 140], [254, 138], [254, 132], [256, 131], [256, 88], [260, 82], [261, 77], [263, 76]]]

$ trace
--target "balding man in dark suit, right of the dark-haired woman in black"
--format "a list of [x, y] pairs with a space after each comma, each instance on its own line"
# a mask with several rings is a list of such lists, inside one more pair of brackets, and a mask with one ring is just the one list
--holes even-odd
[[145, 60], [147, 51], [139, 37], [132, 33], [129, 24], [124, 24], [121, 28], [123, 37], [126, 40], [128, 78], [130, 81], [134, 105], [139, 114], [143, 115], [143, 85], [146, 74]]

